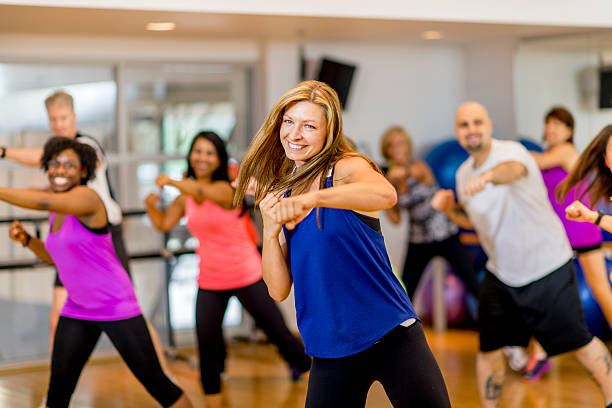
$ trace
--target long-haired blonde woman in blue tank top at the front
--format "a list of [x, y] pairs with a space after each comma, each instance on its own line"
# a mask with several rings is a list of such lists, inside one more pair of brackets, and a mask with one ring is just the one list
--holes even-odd
[[314, 357], [306, 406], [363, 407], [378, 380], [396, 407], [449, 407], [380, 233], [378, 211], [395, 204], [395, 189], [347, 145], [328, 85], [302, 82], [276, 102], [243, 159], [234, 202], [247, 192], [263, 216], [268, 291], [281, 301], [294, 287]]

